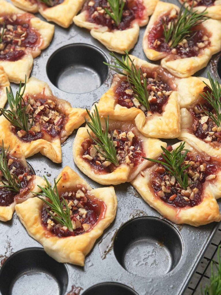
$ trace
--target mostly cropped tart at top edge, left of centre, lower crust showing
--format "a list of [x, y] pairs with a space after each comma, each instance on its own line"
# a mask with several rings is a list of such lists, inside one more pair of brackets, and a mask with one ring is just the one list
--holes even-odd
[[39, 12], [47, 21], [68, 28], [85, 0], [11, 0], [11, 2], [25, 11]]

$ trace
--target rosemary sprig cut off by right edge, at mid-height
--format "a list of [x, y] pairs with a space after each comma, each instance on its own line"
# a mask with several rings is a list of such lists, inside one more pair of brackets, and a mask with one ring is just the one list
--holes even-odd
[[205, 110], [202, 105], [201, 108], [207, 114], [208, 117], [217, 125], [217, 127], [221, 127], [221, 87], [220, 83], [217, 80], [213, 80], [210, 76], [210, 73], [207, 71], [208, 78], [210, 80], [211, 87], [203, 82], [210, 91], [204, 92], [204, 94], [200, 94], [202, 98], [206, 99], [206, 101], [213, 107], [216, 116], [212, 112], [208, 112]]

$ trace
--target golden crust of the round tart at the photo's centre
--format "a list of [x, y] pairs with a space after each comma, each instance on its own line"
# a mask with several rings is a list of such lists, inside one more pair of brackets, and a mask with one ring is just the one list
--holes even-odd
[[[93, 109], [91, 110], [91, 112], [93, 112]], [[101, 124], [104, 124], [104, 119], [101, 119]], [[132, 132], [136, 134], [138, 139], [142, 140], [143, 150], [145, 153], [145, 157], [147, 158], [157, 158], [161, 153], [161, 145], [164, 147], [166, 146], [166, 142], [162, 142], [161, 140], [155, 138], [147, 138], [141, 135], [141, 133], [136, 130], [136, 127], [134, 126], [132, 121], [129, 122], [109, 120], [109, 127], [110, 130], [117, 129], [121, 130], [122, 132], [132, 130]], [[130, 165], [124, 163], [117, 167], [116, 170], [111, 173], [94, 172], [90, 163], [82, 158], [84, 150], [81, 144], [89, 138], [87, 130], [92, 136], [94, 136], [87, 125], [85, 127], [79, 128], [73, 144], [73, 157], [77, 167], [94, 181], [100, 184], [108, 185], [124, 183], [126, 181], [131, 181], [140, 171], [150, 165], [150, 162], [148, 160], [143, 160], [135, 168], [130, 167]]]

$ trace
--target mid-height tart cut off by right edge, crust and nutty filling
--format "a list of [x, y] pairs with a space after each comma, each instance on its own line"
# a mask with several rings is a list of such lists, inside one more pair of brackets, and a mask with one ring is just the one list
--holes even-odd
[[[193, 77], [192, 77], [193, 78]], [[185, 140], [203, 153], [207, 153], [214, 160], [221, 160], [221, 128], [207, 116], [202, 110], [202, 106], [211, 107], [201, 95], [207, 92], [207, 83], [211, 87], [207, 78], [194, 77], [192, 83], [196, 95], [187, 101], [182, 101], [181, 112], [181, 133], [179, 139]]]

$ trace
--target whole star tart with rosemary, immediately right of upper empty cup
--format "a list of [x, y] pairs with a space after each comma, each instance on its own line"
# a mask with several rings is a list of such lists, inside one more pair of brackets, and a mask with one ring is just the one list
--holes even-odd
[[100, 114], [110, 119], [135, 120], [137, 129], [147, 137], [178, 137], [181, 98], [177, 88], [181, 79], [133, 55], [126, 53], [122, 60], [110, 55], [116, 65], [109, 66], [117, 74], [98, 103]]

